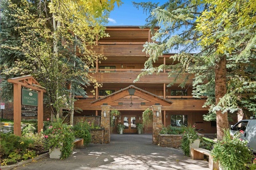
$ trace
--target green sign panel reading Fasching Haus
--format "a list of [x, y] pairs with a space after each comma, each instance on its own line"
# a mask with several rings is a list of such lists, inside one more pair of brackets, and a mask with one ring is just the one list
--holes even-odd
[[22, 105], [38, 106], [38, 93], [22, 88]]

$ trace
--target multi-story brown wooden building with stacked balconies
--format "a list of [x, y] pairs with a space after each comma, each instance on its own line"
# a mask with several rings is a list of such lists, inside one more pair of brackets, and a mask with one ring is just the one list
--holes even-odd
[[[94, 89], [90, 86], [86, 88], [88, 97], [77, 96], [75, 107], [82, 109], [82, 112], [75, 113], [75, 116], [101, 116], [101, 105], [110, 105], [111, 109], [121, 112], [121, 117], [115, 118], [115, 124], [125, 124], [125, 133], [135, 133], [135, 124], [142, 121], [143, 111], [152, 105], [161, 105], [164, 126], [196, 124], [196, 129], [203, 129], [202, 133], [216, 133], [216, 122], [203, 120], [203, 114], [208, 113], [208, 109], [202, 107], [205, 99], [192, 97], [193, 76], [190, 76], [185, 88], [178, 87], [181, 80], [167, 87], [173, 81], [173, 78], [168, 78], [168, 71], [171, 70], [143, 76], [134, 83], [148, 59], [142, 50], [143, 44], [151, 41], [150, 29], [138, 26], [107, 27], [106, 32], [110, 37], [97, 40], [94, 50], [108, 59], [97, 61], [96, 67], [90, 69], [90, 74], [102, 83], [102, 87]], [[171, 64], [171, 55], [164, 54], [154, 65]], [[131, 88], [135, 90], [134, 94], [129, 94]], [[149, 127], [146, 133], [151, 131]], [[117, 130], [114, 129], [113, 133]]]

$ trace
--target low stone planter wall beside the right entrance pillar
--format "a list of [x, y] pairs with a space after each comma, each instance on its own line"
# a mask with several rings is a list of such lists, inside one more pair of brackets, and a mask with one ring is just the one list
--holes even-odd
[[176, 134], [159, 134], [159, 145], [162, 147], [181, 147], [182, 135]]

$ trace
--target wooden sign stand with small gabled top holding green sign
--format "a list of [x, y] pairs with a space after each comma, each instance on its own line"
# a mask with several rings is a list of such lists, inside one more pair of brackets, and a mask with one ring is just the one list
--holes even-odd
[[[14, 86], [14, 134], [21, 136], [22, 114], [23, 116], [38, 117], [39, 133], [43, 129], [43, 93], [46, 92], [46, 88], [40, 86], [31, 75], [11, 78], [8, 79], [8, 82], [13, 83]], [[22, 90], [22, 87], [34, 91]], [[22, 105], [25, 107], [22, 108]]]

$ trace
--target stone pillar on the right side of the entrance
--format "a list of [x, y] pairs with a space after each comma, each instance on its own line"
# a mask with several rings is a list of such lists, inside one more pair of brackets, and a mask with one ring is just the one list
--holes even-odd
[[159, 132], [162, 130], [162, 112], [161, 105], [153, 105], [153, 144], [159, 145]]

